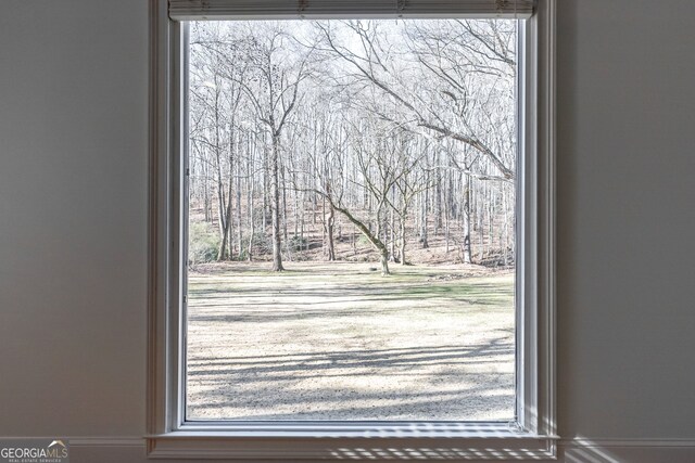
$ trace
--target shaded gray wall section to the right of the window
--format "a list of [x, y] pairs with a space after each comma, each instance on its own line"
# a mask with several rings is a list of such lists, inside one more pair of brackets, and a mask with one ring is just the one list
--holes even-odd
[[694, 438], [693, 4], [558, 3], [560, 433]]

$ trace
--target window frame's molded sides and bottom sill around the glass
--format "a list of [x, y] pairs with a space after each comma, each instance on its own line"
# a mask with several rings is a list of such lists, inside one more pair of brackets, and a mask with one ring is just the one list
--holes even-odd
[[514, 423], [184, 421], [186, 28], [150, 2], [148, 455], [249, 460], [553, 460], [555, 347], [555, 4], [519, 33], [517, 410]]

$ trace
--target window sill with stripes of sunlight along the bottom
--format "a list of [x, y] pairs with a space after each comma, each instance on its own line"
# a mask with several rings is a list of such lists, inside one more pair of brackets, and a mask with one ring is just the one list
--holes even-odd
[[[218, 426], [219, 427], [219, 426]], [[505, 424], [384, 424], [176, 430], [148, 436], [151, 459], [244, 460], [554, 460], [556, 436], [509, 429]], [[437, 429], [440, 427], [439, 429]], [[476, 429], [478, 428], [478, 429]]]

